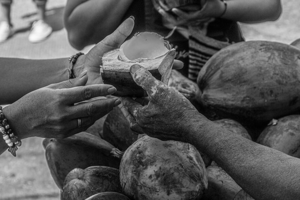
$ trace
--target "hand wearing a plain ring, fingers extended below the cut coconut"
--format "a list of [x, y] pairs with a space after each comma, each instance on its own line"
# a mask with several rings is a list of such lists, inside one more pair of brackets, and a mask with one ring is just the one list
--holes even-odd
[[84, 86], [87, 80], [85, 71], [78, 78], [32, 91], [4, 107], [2, 112], [20, 139], [33, 136], [61, 139], [85, 131], [121, 103], [117, 97], [79, 103], [116, 91], [112, 85]]

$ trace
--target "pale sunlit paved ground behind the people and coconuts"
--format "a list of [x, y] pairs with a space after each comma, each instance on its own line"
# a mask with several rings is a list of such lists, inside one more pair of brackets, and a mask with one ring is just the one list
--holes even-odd
[[[65, 3], [66, 0], [49, 0], [46, 14], [54, 31], [44, 42], [31, 44], [27, 37], [36, 17], [35, 5], [32, 0], [14, 0], [12, 19], [17, 33], [7, 42], [0, 43], [0, 56], [42, 59], [69, 57], [77, 52], [67, 42], [63, 28], [61, 17]], [[278, 21], [259, 25], [242, 24], [244, 37], [246, 40], [291, 43], [300, 38], [298, 7], [299, 0], [283, 0], [283, 15]], [[8, 152], [1, 155], [0, 200], [59, 199], [59, 191], [49, 173], [41, 141], [40, 138], [24, 140], [16, 158]]]

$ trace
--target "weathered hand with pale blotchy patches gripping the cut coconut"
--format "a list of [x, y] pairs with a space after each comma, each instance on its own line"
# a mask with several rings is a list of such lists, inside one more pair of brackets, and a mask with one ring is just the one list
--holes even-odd
[[[121, 110], [128, 119], [131, 129], [146, 133], [161, 140], [187, 142], [193, 120], [207, 120], [182, 94], [155, 79], [140, 65], [130, 68], [137, 85], [147, 91], [149, 103], [142, 106], [130, 97], [121, 97]], [[121, 106], [122, 105], [122, 106]]]

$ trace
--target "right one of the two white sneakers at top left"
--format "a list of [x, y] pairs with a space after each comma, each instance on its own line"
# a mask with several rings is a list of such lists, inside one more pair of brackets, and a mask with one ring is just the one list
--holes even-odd
[[52, 27], [43, 20], [33, 22], [29, 33], [29, 42], [36, 43], [45, 40], [52, 33]]

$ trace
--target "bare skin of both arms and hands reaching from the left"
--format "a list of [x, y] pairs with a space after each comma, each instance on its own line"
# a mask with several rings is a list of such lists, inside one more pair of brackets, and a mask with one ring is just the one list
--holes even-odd
[[[77, 78], [67, 81], [68, 58], [0, 58], [2, 76], [5, 77], [0, 79], [0, 104], [10, 104], [2, 112], [15, 135], [19, 139], [34, 136], [65, 138], [86, 130], [121, 103], [118, 97], [91, 98], [107, 96], [116, 91], [112, 85], [100, 84], [102, 80], [99, 70], [102, 63], [99, 56], [119, 48], [133, 27], [134, 19], [126, 19], [90, 52], [79, 56], [73, 67]], [[9, 81], [11, 79], [16, 81]], [[88, 102], [79, 103], [85, 100]], [[80, 128], [77, 127], [77, 118], [82, 121]], [[0, 154], [7, 148], [1, 139]]]

